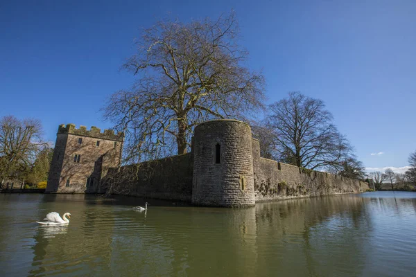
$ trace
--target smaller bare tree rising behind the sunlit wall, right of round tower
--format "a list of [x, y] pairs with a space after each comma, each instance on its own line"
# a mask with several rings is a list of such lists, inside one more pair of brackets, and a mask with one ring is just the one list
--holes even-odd
[[275, 132], [279, 159], [304, 168], [342, 170], [352, 146], [332, 119], [322, 100], [299, 92], [270, 105], [267, 124]]

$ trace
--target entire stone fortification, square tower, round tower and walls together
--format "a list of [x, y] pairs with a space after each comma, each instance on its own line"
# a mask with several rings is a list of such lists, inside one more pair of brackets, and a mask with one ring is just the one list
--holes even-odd
[[[96, 141], [101, 141], [99, 147]], [[110, 188], [114, 194], [200, 206], [252, 206], [256, 202], [369, 189], [363, 181], [260, 157], [259, 141], [252, 139], [250, 125], [239, 120], [201, 123], [195, 128], [188, 154], [112, 170], [120, 163], [122, 142], [122, 134], [108, 130], [101, 133], [96, 127], [87, 131], [85, 127], [61, 125], [46, 191], [103, 193]], [[76, 154], [80, 154], [79, 163], [74, 162]], [[88, 179], [94, 181], [87, 186]]]

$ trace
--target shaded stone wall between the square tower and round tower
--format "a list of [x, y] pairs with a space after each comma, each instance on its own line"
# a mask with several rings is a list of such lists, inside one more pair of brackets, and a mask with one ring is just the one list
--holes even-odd
[[[104, 178], [113, 194], [191, 202], [192, 154], [124, 166]], [[108, 189], [108, 188], [107, 188]]]

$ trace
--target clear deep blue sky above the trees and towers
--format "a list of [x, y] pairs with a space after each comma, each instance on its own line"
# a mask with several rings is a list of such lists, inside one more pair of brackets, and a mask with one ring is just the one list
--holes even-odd
[[51, 141], [61, 123], [111, 127], [100, 108], [132, 84], [119, 69], [141, 28], [232, 9], [268, 102], [288, 91], [323, 99], [367, 168], [407, 166], [416, 150], [413, 0], [3, 0], [0, 116], [39, 118]]

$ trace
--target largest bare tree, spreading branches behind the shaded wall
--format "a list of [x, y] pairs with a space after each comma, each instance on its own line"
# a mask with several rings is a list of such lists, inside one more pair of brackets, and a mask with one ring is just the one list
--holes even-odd
[[190, 145], [193, 127], [211, 118], [243, 118], [262, 106], [263, 75], [243, 64], [234, 14], [189, 24], [158, 21], [144, 31], [124, 68], [138, 76], [114, 93], [104, 117], [126, 134], [130, 161], [177, 154]]

